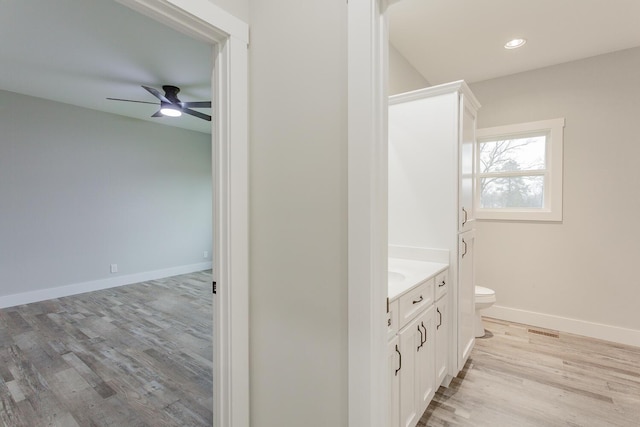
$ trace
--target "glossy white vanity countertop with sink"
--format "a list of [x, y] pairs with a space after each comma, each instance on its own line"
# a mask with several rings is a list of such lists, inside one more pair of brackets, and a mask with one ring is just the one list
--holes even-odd
[[415, 286], [449, 268], [449, 264], [389, 258], [389, 301], [398, 299]]

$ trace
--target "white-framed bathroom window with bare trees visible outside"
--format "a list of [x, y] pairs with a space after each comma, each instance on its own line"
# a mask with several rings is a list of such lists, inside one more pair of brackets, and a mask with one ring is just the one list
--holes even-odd
[[476, 131], [476, 217], [562, 221], [564, 119]]

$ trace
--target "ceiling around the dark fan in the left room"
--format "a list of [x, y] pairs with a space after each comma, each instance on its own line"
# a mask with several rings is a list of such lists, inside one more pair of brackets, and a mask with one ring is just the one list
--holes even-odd
[[[0, 0], [0, 89], [211, 133], [189, 115], [150, 116], [141, 85], [211, 100], [212, 48], [114, 0]], [[210, 109], [198, 109], [211, 114]]]

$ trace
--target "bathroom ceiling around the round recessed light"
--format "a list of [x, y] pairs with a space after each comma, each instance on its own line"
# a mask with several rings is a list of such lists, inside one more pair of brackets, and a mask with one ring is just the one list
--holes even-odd
[[402, 0], [389, 31], [430, 84], [477, 82], [640, 46], [640, 0]]

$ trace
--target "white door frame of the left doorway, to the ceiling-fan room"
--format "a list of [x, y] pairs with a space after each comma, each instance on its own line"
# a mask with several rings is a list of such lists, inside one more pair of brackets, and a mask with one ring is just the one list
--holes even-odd
[[213, 424], [249, 427], [249, 28], [208, 0], [116, 1], [213, 45]]

